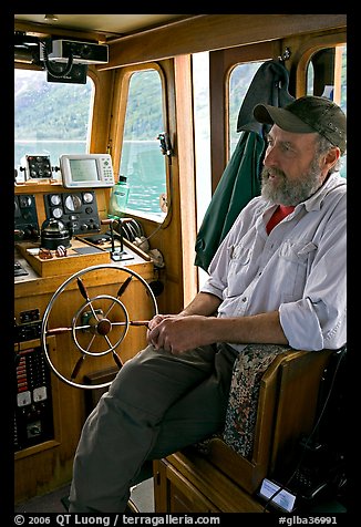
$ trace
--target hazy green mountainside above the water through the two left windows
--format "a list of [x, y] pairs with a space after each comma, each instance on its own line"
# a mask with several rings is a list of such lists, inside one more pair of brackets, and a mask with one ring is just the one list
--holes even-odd
[[[132, 76], [131, 83], [132, 99], [127, 107], [124, 138], [131, 140], [135, 133], [137, 140], [155, 140], [164, 128], [159, 110], [159, 78], [143, 73], [142, 76], [134, 75], [134, 80]], [[91, 80], [86, 84], [50, 83], [47, 82], [45, 72], [17, 70], [14, 138], [85, 141], [92, 112], [92, 86]], [[138, 104], [140, 101], [142, 104]]]

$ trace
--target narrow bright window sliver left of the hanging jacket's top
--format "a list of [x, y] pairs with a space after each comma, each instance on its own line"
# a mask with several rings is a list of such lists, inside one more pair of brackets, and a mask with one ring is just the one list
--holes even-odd
[[237, 64], [229, 75], [229, 157], [234, 153], [239, 141], [239, 133], [237, 132], [237, 118], [239, 108], [244, 102], [248, 87], [254, 80], [257, 70], [262, 62], [248, 62], [245, 64]]

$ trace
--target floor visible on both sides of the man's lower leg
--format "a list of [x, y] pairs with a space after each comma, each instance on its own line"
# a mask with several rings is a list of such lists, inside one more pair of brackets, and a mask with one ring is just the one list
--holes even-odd
[[[18, 504], [14, 513], [65, 513], [62, 498], [69, 496], [70, 485], [65, 485], [44, 496], [37, 496], [28, 502]], [[145, 479], [131, 493], [131, 499], [140, 513], [154, 513], [153, 477]]]

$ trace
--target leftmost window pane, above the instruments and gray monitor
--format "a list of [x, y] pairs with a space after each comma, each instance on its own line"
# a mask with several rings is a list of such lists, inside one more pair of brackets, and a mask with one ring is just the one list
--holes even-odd
[[[14, 168], [23, 180], [25, 155], [89, 153], [94, 83], [52, 83], [45, 71], [14, 70]], [[53, 174], [56, 176], [56, 174]]]

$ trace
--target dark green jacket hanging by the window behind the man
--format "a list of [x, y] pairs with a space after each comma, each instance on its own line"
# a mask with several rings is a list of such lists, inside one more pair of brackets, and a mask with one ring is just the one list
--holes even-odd
[[281, 62], [267, 61], [256, 72], [246, 93], [237, 122], [237, 132], [241, 135], [197, 234], [195, 265], [205, 271], [240, 210], [260, 194], [266, 143], [264, 127], [254, 117], [254, 107], [259, 103], [283, 107], [292, 102], [288, 80], [288, 71]]

